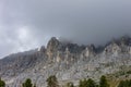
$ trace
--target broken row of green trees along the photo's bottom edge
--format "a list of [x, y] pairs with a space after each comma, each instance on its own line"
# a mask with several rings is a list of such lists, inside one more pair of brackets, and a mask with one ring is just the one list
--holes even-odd
[[[61, 87], [59, 86], [58, 79], [55, 75], [51, 75], [47, 78], [47, 87]], [[0, 87], [5, 87], [5, 82], [0, 78]], [[22, 87], [37, 87], [35, 84], [32, 83], [31, 78], [27, 78], [23, 84]], [[75, 87], [73, 83], [67, 83], [66, 86], [62, 87]], [[76, 87], [110, 87], [107, 82], [106, 76], [102, 76], [99, 83], [95, 83], [92, 78], [84, 78], [81, 79], [79, 86]], [[131, 87], [131, 79], [121, 80], [117, 87]]]

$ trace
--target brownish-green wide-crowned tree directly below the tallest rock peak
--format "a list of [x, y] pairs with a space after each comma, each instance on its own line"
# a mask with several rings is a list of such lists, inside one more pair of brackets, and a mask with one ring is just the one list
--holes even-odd
[[55, 75], [51, 75], [49, 78], [47, 78], [47, 87], [59, 87], [57, 77]]

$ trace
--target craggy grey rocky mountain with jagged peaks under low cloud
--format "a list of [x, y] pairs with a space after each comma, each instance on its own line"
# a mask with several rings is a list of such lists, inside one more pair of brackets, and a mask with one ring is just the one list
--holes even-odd
[[[86, 40], [86, 39], [85, 39]], [[63, 42], [52, 37], [47, 47], [8, 55], [0, 60], [0, 76], [8, 87], [21, 87], [26, 78], [32, 78], [38, 87], [46, 87], [46, 79], [56, 75], [60, 85], [81, 78], [96, 80], [102, 75], [131, 71], [131, 38], [123, 36], [103, 47], [80, 46]], [[130, 76], [130, 73], [128, 73]]]

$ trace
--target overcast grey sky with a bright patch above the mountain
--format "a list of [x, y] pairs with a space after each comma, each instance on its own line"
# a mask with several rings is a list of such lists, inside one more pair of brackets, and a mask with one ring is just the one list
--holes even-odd
[[100, 45], [131, 35], [131, 0], [0, 0], [0, 58], [50, 37]]

